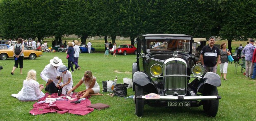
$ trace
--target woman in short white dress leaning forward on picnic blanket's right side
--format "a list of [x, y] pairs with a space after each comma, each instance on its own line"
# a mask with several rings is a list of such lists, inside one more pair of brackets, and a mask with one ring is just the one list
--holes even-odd
[[[81, 84], [85, 84], [86, 89], [83, 91], [79, 91], [76, 97], [78, 99], [85, 98], [90, 95], [103, 95], [100, 94], [100, 85], [96, 81], [96, 77], [92, 75], [90, 70], [85, 71], [83, 78], [73, 87], [70, 91], [68, 91], [68, 95], [71, 94], [72, 91], [77, 89]], [[82, 96], [79, 96], [82, 95]]]

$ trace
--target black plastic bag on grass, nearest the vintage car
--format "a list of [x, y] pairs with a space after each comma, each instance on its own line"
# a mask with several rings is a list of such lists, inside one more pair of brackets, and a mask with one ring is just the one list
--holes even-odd
[[129, 84], [116, 84], [114, 87], [114, 95], [119, 97], [125, 97], [127, 95], [127, 87]]

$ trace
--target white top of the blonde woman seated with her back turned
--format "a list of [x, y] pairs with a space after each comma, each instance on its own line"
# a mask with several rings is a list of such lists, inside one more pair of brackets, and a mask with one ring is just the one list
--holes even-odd
[[45, 94], [39, 89], [39, 83], [33, 79], [24, 80], [23, 87], [18, 94], [12, 94], [11, 96], [18, 98], [19, 100], [38, 100], [45, 96]]

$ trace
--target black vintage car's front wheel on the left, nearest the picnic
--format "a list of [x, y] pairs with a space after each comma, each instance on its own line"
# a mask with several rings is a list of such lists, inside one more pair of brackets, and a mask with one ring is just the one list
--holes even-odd
[[142, 117], [144, 115], [144, 100], [142, 99], [136, 99], [137, 96], [142, 96], [143, 88], [135, 85], [135, 113], [137, 116]]

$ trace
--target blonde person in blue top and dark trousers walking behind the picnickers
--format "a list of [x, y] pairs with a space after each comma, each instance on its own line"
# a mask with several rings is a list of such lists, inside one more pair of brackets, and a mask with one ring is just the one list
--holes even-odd
[[73, 44], [71, 41], [68, 42], [68, 50], [66, 51], [66, 53], [69, 55], [68, 58], [68, 70], [69, 68], [71, 68], [71, 72], [74, 72], [73, 66], [72, 66], [72, 62], [74, 62], [74, 53], [75, 53], [75, 49], [73, 48]]

